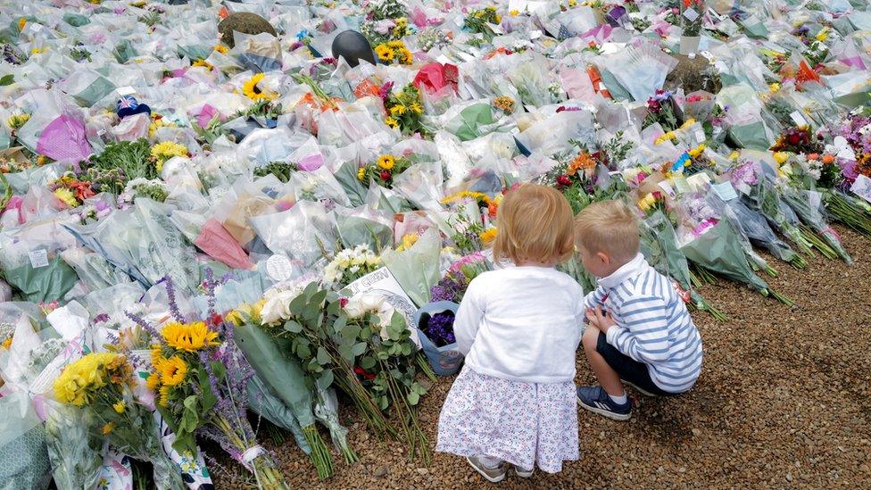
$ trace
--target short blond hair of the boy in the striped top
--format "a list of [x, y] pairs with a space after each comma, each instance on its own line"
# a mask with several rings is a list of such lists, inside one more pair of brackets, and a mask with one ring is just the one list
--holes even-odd
[[588, 253], [628, 262], [638, 254], [638, 218], [620, 201], [592, 203], [575, 218], [575, 239]]

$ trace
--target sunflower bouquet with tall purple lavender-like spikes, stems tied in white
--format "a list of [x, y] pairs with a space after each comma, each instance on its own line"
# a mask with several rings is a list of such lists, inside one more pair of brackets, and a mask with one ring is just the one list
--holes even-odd
[[176, 434], [178, 453], [196, 453], [195, 434], [220, 444], [250, 470], [261, 488], [286, 488], [269, 455], [257, 444], [246, 416], [247, 383], [253, 376], [245, 356], [233, 343], [233, 326], [214, 308], [211, 270], [203, 286], [210, 297], [210, 317], [190, 321], [178, 309], [175, 288], [164, 278], [171, 320], [160, 330], [141, 316], [128, 313], [157, 344], [146, 386], [158, 395], [158, 410]]

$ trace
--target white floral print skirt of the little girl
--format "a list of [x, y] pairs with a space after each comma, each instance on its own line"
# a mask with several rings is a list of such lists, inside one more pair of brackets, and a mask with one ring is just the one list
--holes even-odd
[[557, 473], [578, 459], [575, 384], [523, 383], [464, 367], [438, 419], [435, 451]]

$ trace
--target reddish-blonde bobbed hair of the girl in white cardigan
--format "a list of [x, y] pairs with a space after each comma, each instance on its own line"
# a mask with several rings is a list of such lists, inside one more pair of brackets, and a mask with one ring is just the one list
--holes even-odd
[[575, 250], [571, 206], [552, 187], [526, 184], [511, 191], [499, 206], [498, 220], [496, 262], [560, 263]]

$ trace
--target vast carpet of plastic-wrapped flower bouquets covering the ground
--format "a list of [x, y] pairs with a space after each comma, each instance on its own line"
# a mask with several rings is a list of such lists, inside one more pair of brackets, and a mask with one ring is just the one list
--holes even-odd
[[[427, 464], [421, 380], [459, 369], [453, 308], [510, 266], [499, 207], [527, 182], [574, 212], [625, 201], [696, 310], [724, 318], [697, 291], [722, 278], [791, 303], [765, 277], [852, 262], [834, 223], [871, 237], [869, 19], [0, 0], [0, 477], [122, 488], [150, 461], [195, 488], [212, 440], [283, 487], [249, 412], [318, 478], [357, 463], [349, 430]], [[369, 46], [334, 51], [349, 29]], [[560, 270], [595, 284], [577, 256]]]

